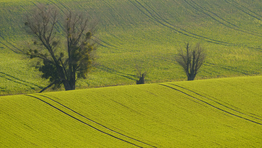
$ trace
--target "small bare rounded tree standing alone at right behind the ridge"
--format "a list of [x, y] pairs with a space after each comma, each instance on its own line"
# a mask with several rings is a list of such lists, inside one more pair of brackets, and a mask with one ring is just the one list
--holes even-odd
[[184, 48], [180, 48], [175, 60], [182, 66], [187, 74], [187, 80], [190, 81], [195, 79], [206, 57], [206, 51], [200, 43], [197, 43], [196, 46], [192, 48], [190, 43], [187, 42]]

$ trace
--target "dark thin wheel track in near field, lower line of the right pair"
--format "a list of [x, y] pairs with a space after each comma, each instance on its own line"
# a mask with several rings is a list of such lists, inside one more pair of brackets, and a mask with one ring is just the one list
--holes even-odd
[[[165, 86], [165, 87], [168, 87], [168, 88], [174, 89], [174, 90], [176, 90], [176, 91], [179, 91], [179, 92], [181, 92], [181, 93], [183, 93], [183, 94], [185, 94], [185, 95], [187, 95], [187, 96], [190, 96], [190, 97], [192, 97], [192, 98], [194, 98], [194, 99], [196, 99], [196, 100], [198, 100], [198, 101], [200, 101], [200, 102], [203, 102], [203, 103], [205, 103], [205, 104], [207, 104], [207, 105], [209, 105], [209, 106], [211, 106], [211, 107], [213, 107], [213, 108], [215, 108], [215, 109], [217, 109], [217, 110], [220, 110], [220, 111], [226, 112], [226, 113], [228, 113], [228, 114], [231, 114], [231, 115], [233, 115], [233, 116], [236, 116], [236, 117], [239, 117], [239, 118], [245, 119], [245, 120], [247, 120], [247, 121], [250, 121], [250, 122], [253, 122], [253, 123], [256, 123], [256, 124], [262, 125], [262, 123], [259, 123], [259, 122], [256, 122], [256, 121], [253, 121], [253, 120], [250, 120], [250, 119], [247, 119], [247, 118], [241, 117], [241, 116], [239, 116], [239, 115], [233, 114], [233, 113], [231, 113], [231, 112], [228, 112], [228, 111], [222, 110], [222, 109], [220, 109], [220, 108], [218, 108], [218, 107], [215, 107], [215, 106], [213, 106], [213, 105], [211, 105], [211, 104], [209, 104], [209, 103], [207, 103], [207, 102], [205, 102], [205, 101], [203, 101], [203, 100], [200, 100], [200, 99], [198, 99], [198, 98], [196, 98], [196, 97], [193, 97], [193, 96], [191, 96], [191, 95], [189, 95], [189, 94], [187, 94], [187, 93], [185, 93], [185, 92], [183, 92], [183, 91], [180, 91], [180, 90], [178, 90], [178, 89], [175, 89], [175, 88], [173, 88], [173, 87], [170, 87], [170, 86], [167, 86], [167, 85], [164, 85], [164, 84], [159, 84], [159, 85], [162, 85], [162, 86]], [[191, 99], [190, 99], [190, 100], [191, 100]], [[196, 101], [194, 101], [194, 102], [196, 102]], [[197, 103], [198, 103], [198, 102], [197, 102]]]

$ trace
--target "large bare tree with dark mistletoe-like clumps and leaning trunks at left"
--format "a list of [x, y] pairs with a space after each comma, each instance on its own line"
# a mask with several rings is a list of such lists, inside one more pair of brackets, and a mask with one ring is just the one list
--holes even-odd
[[[60, 15], [57, 7], [43, 4], [26, 16], [27, 33], [34, 41], [18, 52], [39, 60], [35, 67], [50, 80], [50, 85], [40, 92], [52, 85], [73, 90], [78, 78], [86, 78], [97, 49], [92, 39], [95, 23], [91, 22], [84, 13], [69, 11]], [[60, 24], [63, 29], [57, 33]]]

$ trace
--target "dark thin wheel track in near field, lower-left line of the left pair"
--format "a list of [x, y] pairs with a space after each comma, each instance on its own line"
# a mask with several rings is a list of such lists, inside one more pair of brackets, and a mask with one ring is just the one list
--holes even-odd
[[128, 143], [128, 144], [134, 145], [134, 146], [136, 146], [136, 147], [143, 148], [143, 147], [141, 147], [141, 146], [138, 146], [138, 145], [136, 145], [136, 144], [133, 144], [133, 143], [131, 143], [131, 142], [128, 142], [128, 141], [126, 141], [126, 140], [123, 140], [123, 139], [121, 139], [121, 138], [115, 137], [115, 136], [113, 136], [113, 135], [111, 135], [111, 134], [109, 134], [109, 133], [106, 133], [106, 132], [104, 132], [104, 131], [102, 131], [102, 130], [100, 130], [100, 129], [98, 129], [98, 128], [96, 128], [96, 127], [94, 127], [94, 126], [92, 126], [92, 125], [90, 125], [90, 124], [88, 124], [88, 123], [86, 123], [86, 122], [84, 122], [84, 121], [82, 121], [82, 120], [80, 120], [80, 119], [78, 119], [78, 118], [76, 118], [76, 117], [74, 117], [74, 116], [72, 116], [72, 115], [70, 115], [70, 114], [62, 111], [62, 110], [60, 110], [60, 109], [58, 109], [58, 108], [56, 108], [56, 107], [53, 106], [52, 104], [50, 104], [50, 103], [48, 103], [48, 102], [46, 102], [46, 101], [44, 101], [44, 100], [42, 100], [42, 99], [40, 99], [40, 98], [37, 98], [37, 97], [35, 97], [35, 96], [31, 96], [31, 95], [25, 95], [25, 96], [29, 96], [29, 97], [33, 97], [33, 98], [35, 98], [35, 99], [38, 99], [38, 100], [42, 101], [43, 103], [51, 106], [52, 108], [54, 108], [54, 109], [56, 109], [56, 110], [58, 110], [58, 111], [60, 111], [60, 112], [62, 112], [62, 113], [64, 113], [64, 114], [70, 116], [71, 118], [73, 118], [73, 119], [75, 119], [75, 120], [77, 120], [77, 121], [79, 121], [79, 122], [81, 122], [81, 123], [83, 123], [83, 124], [85, 124], [85, 125], [93, 128], [93, 129], [95, 129], [95, 130], [97, 130], [97, 131], [99, 131], [99, 132], [101, 132], [101, 133], [103, 133], [103, 134], [106, 134], [106, 135], [108, 135], [108, 136], [110, 136], [110, 137], [113, 137], [113, 138], [118, 139], [118, 140], [120, 140], [120, 141], [126, 142], [126, 143]]

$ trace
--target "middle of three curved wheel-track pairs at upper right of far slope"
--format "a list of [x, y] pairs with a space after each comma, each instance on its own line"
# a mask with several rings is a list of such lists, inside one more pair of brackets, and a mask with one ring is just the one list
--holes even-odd
[[[193, 1], [193, 0], [191, 0], [191, 1], [192, 1], [195, 5], [197, 5], [198, 7], [200, 7], [202, 10], [194, 7], [194, 6], [193, 6], [192, 4], [190, 4], [188, 1], [186, 1], [186, 0], [184, 0], [184, 1], [185, 1], [188, 5], [190, 5], [192, 8], [194, 8], [195, 10], [197, 10], [197, 11], [199, 11], [199, 12], [201, 12], [201, 13], [204, 13], [205, 15], [209, 16], [209, 17], [212, 18], [213, 20], [217, 21], [218, 23], [220, 23], [220, 24], [222, 24], [222, 25], [224, 25], [224, 26], [226, 26], [226, 27], [228, 27], [228, 28], [230, 28], [230, 29], [237, 30], [237, 31], [240, 31], [240, 32], [243, 32], [243, 33], [246, 33], [246, 34], [253, 35], [253, 36], [262, 37], [261, 35], [255, 35], [255, 34], [253, 34], [254, 32], [253, 32], [253, 33], [249, 33], [249, 32], [251, 32], [251, 31], [246, 32], [246, 31], [248, 31], [248, 30], [246, 30], [246, 31], [240, 30], [240, 29], [241, 29], [240, 27], [237, 27], [236, 25], [231, 24], [230, 22], [224, 20], [223, 18], [219, 17], [217, 14], [215, 14], [215, 13], [213, 13], [213, 12], [211, 12], [211, 11], [209, 11], [209, 10], [207, 10], [207, 9], [204, 9], [202, 6], [200, 6], [199, 4], [197, 4], [197, 3], [196, 3], [195, 1]], [[233, 28], [233, 27], [230, 27], [230, 26], [226, 25], [225, 23], [219, 21], [218, 19], [214, 18], [213, 16], [211, 16], [211, 15], [208, 14], [208, 13], [206, 13], [205, 11], [212, 13], [213, 15], [215, 15], [217, 18], [221, 19], [222, 21], [224, 21], [224, 22], [226, 22], [226, 23], [228, 23], [228, 24], [230, 24], [230, 25], [232, 25], [232, 26], [234, 26], [234, 27], [237, 27], [237, 28], [239, 28], [239, 29], [236, 29], [236, 28]], [[257, 34], [258, 34], [258, 33], [257, 33]]]

